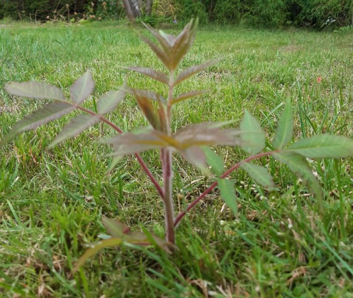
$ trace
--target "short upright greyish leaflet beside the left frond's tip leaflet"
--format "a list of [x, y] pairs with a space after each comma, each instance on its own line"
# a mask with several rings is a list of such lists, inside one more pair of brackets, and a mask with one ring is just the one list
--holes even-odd
[[70, 87], [70, 96], [74, 103], [82, 103], [93, 91], [94, 81], [89, 70], [79, 77]]

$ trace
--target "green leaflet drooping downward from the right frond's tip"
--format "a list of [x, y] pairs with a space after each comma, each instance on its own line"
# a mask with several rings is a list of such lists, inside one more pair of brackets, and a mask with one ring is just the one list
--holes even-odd
[[306, 159], [293, 152], [281, 152], [273, 154], [273, 157], [280, 162], [286, 164], [288, 168], [298, 174], [304, 181], [306, 181], [311, 189], [316, 194], [316, 197], [319, 201], [320, 208], [322, 208], [322, 191], [319, 184], [319, 181], [315, 178], [308, 162]]

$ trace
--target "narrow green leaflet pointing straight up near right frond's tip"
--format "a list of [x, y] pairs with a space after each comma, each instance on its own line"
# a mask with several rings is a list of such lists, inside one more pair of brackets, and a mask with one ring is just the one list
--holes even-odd
[[290, 98], [287, 98], [282, 115], [278, 121], [276, 135], [273, 138], [272, 145], [276, 149], [282, 149], [293, 136], [293, 113], [290, 104]]

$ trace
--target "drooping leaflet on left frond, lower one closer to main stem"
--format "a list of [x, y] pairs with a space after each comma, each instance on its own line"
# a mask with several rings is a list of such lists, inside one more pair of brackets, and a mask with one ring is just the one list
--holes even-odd
[[49, 144], [49, 148], [55, 146], [57, 143], [80, 134], [82, 131], [92, 126], [99, 121], [98, 116], [94, 115], [79, 115], [72, 119], [71, 123], [66, 125], [61, 132], [59, 132], [54, 140]]

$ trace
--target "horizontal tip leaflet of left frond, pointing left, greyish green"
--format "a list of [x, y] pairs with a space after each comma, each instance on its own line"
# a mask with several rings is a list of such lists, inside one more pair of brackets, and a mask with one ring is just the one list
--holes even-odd
[[10, 94], [22, 97], [65, 100], [65, 95], [62, 90], [47, 83], [11, 82], [6, 84], [5, 89]]

